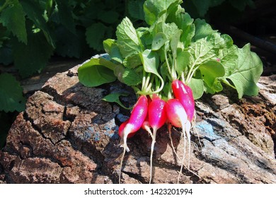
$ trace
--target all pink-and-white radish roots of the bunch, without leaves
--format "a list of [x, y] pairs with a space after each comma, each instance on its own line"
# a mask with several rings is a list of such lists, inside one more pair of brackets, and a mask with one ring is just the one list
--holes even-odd
[[[183, 160], [181, 163], [180, 173], [183, 169], [183, 163], [185, 159], [185, 140], [188, 140], [188, 168], [190, 165], [190, 128], [191, 122], [195, 113], [195, 101], [192, 95], [192, 90], [189, 86], [185, 85], [180, 80], [174, 80], [171, 83], [174, 98], [168, 100], [162, 100], [159, 95], [155, 93], [151, 95], [139, 96], [137, 103], [134, 105], [130, 115], [130, 119], [123, 122], [119, 128], [119, 135], [121, 137], [121, 145], [124, 148], [121, 163], [120, 163], [120, 174], [122, 169], [122, 162], [125, 156], [125, 151], [130, 151], [127, 147], [127, 138], [130, 135], [137, 132], [140, 128], [149, 132], [151, 142], [151, 155], [150, 155], [150, 178], [149, 183], [152, 180], [152, 157], [154, 152], [154, 144], [156, 142], [156, 132], [158, 129], [163, 127], [165, 123], [168, 127], [180, 127], [184, 137], [184, 152]], [[149, 99], [147, 99], [149, 98]], [[180, 177], [178, 175], [178, 181]], [[120, 179], [119, 179], [120, 182]]]

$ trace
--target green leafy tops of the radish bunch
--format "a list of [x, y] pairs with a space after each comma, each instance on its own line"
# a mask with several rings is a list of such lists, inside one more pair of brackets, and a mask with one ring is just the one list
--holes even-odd
[[[204, 92], [222, 91], [223, 84], [235, 88], [238, 98], [257, 95], [263, 65], [250, 45], [239, 49], [229, 35], [213, 30], [204, 20], [194, 21], [181, 2], [145, 1], [144, 18], [149, 26], [135, 29], [130, 19], [124, 18], [117, 26], [117, 40], [103, 42], [110, 60], [100, 66], [113, 71], [137, 94], [158, 93], [165, 100], [171, 98], [171, 81], [177, 78], [192, 88], [195, 99]], [[79, 68], [81, 83], [98, 84], [94, 82], [98, 73], [89, 73], [95, 66], [99, 64]], [[83, 78], [84, 74], [90, 77]]]

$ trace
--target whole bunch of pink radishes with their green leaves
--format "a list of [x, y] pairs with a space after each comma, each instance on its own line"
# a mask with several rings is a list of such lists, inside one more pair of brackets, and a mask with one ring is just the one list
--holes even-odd
[[[108, 57], [94, 57], [78, 69], [79, 81], [85, 86], [118, 80], [137, 94], [130, 119], [119, 129], [123, 148], [119, 177], [125, 152], [130, 151], [127, 139], [139, 129], [146, 130], [152, 139], [151, 182], [156, 133], [164, 124], [170, 138], [172, 126], [180, 128], [183, 135], [181, 173], [186, 147], [190, 168], [195, 100], [203, 93], [218, 93], [224, 86], [236, 89], [238, 98], [258, 94], [256, 83], [263, 66], [250, 51], [250, 45], [238, 48], [229, 35], [213, 30], [204, 20], [191, 18], [181, 3], [182, 0], [146, 0], [143, 8], [147, 25], [134, 28], [129, 18], [122, 19], [117, 38], [103, 41]], [[126, 93], [110, 93], [103, 100], [125, 107], [121, 95]], [[174, 148], [173, 151], [176, 152]]]

